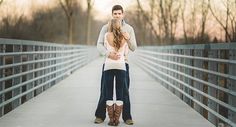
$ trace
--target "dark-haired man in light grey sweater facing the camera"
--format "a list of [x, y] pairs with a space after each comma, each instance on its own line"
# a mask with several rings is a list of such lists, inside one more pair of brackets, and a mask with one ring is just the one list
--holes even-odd
[[[124, 18], [124, 11], [122, 6], [115, 5], [112, 7], [112, 17], [115, 19], [119, 19], [122, 21], [122, 32], [127, 32], [129, 36], [125, 36], [124, 38], [127, 40], [129, 49], [131, 51], [134, 51], [137, 48], [137, 43], [135, 39], [135, 34], [133, 28], [125, 23], [123, 20]], [[104, 46], [104, 35], [108, 30], [108, 24], [104, 25], [100, 31], [98, 41], [97, 41], [97, 49], [102, 55], [106, 55], [109, 58], [113, 60], [119, 59], [119, 55], [115, 52], [108, 52]], [[103, 65], [104, 67], [104, 65]], [[96, 119], [94, 123], [99, 124], [102, 123], [106, 118], [106, 100], [105, 100], [105, 87], [104, 87], [104, 74], [102, 73], [102, 79], [101, 79], [101, 94], [100, 99], [98, 102], [98, 106], [95, 112]], [[124, 92], [124, 107], [123, 107], [123, 113], [122, 113], [122, 119], [124, 122], [128, 125], [133, 125], [132, 116], [130, 113], [130, 99], [129, 99], [129, 84], [130, 84], [130, 78], [129, 78], [129, 65], [126, 61], [126, 84], [125, 86], [125, 92]]]

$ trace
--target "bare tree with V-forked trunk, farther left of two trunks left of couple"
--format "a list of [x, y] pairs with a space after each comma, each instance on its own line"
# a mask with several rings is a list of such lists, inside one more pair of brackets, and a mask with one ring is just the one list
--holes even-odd
[[65, 12], [68, 23], [68, 42], [73, 44], [73, 5], [76, 0], [60, 0], [60, 5]]

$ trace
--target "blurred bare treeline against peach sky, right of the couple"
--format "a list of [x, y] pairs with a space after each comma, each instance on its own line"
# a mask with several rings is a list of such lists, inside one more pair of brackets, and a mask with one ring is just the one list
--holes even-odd
[[135, 0], [126, 18], [141, 45], [236, 42], [235, 0]]

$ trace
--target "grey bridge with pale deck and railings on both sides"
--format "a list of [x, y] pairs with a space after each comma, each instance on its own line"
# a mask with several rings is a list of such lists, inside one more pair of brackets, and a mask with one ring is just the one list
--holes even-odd
[[[236, 127], [235, 47], [144, 46], [131, 53], [133, 126]], [[107, 126], [108, 119], [93, 123], [102, 64], [92, 46], [0, 39], [0, 126]]]

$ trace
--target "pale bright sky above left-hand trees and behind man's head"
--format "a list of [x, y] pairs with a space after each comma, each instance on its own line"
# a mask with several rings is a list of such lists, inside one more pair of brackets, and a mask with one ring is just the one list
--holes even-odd
[[[4, 0], [3, 4], [0, 6], [0, 17], [4, 16], [6, 13], [13, 12], [16, 15], [24, 14], [28, 17], [32, 14], [33, 10], [40, 9], [42, 7], [53, 7], [55, 3], [59, 0]], [[86, 9], [87, 0], [78, 0], [82, 4], [83, 8]], [[92, 0], [93, 14], [95, 19], [103, 20], [108, 16], [111, 16], [111, 8], [115, 4], [120, 4], [124, 9], [128, 8], [130, 5], [136, 4], [136, 0]], [[5, 13], [6, 12], [6, 13]]]

